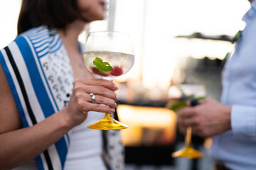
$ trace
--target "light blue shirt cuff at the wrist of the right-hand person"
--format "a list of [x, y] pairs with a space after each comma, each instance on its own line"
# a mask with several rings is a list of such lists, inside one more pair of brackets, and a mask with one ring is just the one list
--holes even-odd
[[232, 106], [231, 127], [238, 140], [256, 142], [256, 107]]

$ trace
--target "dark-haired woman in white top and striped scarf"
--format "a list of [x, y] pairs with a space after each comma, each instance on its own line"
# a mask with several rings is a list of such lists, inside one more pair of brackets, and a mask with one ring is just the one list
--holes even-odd
[[23, 0], [0, 51], [0, 169], [107, 169], [101, 131], [86, 126], [102, 118], [89, 111], [114, 113], [118, 88], [94, 79], [78, 43], [104, 14], [104, 0]]

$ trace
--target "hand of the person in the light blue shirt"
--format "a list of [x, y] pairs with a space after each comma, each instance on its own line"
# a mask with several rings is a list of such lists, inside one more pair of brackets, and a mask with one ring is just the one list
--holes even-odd
[[178, 113], [178, 128], [185, 132], [191, 126], [193, 135], [211, 137], [231, 129], [231, 106], [225, 106], [213, 98], [200, 101], [200, 105], [183, 108]]

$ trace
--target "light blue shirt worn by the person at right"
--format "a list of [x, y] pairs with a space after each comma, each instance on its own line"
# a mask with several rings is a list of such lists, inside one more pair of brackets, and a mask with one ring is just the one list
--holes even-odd
[[223, 70], [221, 102], [232, 106], [231, 130], [213, 137], [210, 155], [234, 170], [256, 169], [256, 1]]

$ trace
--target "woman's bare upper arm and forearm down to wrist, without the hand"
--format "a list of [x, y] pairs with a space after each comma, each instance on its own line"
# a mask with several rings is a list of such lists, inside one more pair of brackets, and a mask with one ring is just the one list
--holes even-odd
[[22, 128], [14, 97], [0, 65], [0, 169], [9, 169], [35, 158], [73, 126], [64, 111], [31, 128]]

